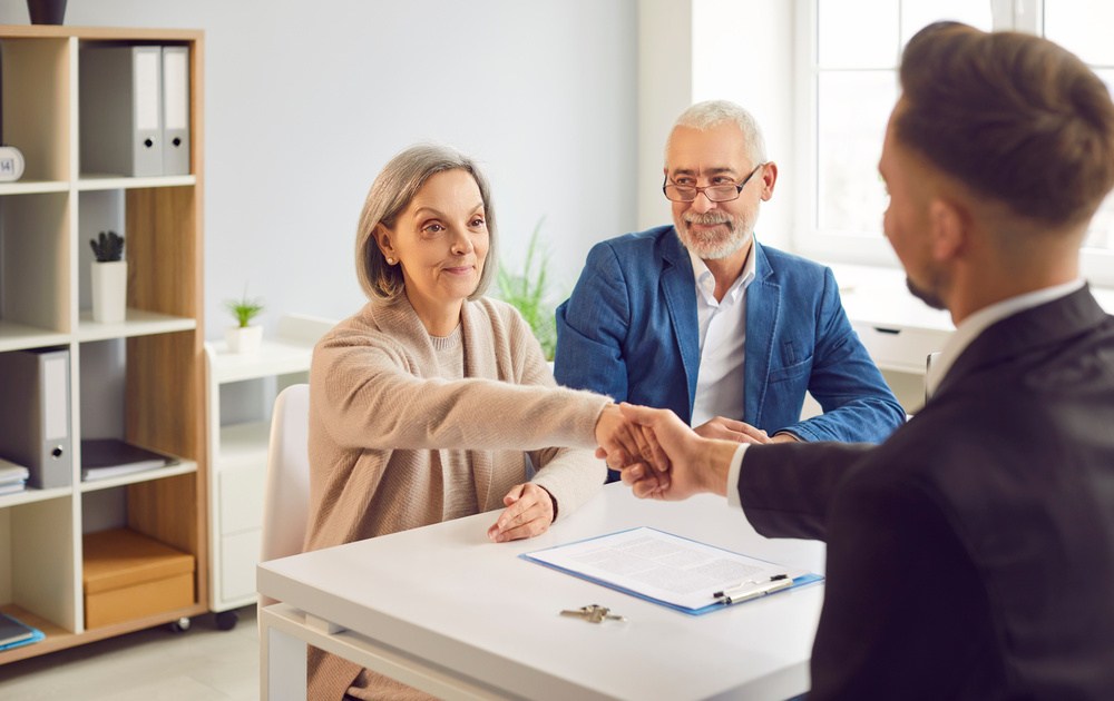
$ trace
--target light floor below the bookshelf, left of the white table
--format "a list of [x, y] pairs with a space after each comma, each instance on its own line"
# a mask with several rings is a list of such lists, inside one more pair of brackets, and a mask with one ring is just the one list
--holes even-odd
[[255, 608], [238, 613], [231, 631], [216, 630], [211, 613], [182, 633], [153, 628], [0, 667], [0, 699], [256, 701]]

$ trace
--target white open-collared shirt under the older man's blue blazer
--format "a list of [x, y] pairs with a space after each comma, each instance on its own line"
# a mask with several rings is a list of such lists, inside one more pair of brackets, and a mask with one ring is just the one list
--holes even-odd
[[696, 278], [700, 371], [692, 425], [716, 416], [743, 417], [743, 364], [746, 343], [746, 287], [754, 280], [754, 246], [743, 270], [723, 299], [715, 298], [715, 277], [700, 256], [688, 251]]

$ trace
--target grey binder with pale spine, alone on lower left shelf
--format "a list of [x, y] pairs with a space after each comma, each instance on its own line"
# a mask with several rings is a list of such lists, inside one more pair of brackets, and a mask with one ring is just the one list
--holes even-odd
[[26, 466], [28, 486], [72, 484], [69, 350], [0, 353], [0, 456]]

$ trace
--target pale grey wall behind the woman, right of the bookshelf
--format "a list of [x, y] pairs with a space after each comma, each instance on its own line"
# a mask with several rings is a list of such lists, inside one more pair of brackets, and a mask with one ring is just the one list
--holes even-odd
[[505, 260], [546, 217], [556, 294], [635, 228], [635, 0], [69, 0], [66, 23], [205, 30], [206, 337], [245, 285], [268, 326], [353, 313], [363, 197], [414, 141], [480, 160]]

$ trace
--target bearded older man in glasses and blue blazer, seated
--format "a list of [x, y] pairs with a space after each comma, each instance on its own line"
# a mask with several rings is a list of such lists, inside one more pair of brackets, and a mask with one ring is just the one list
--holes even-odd
[[[761, 246], [778, 166], [726, 101], [677, 119], [665, 157], [673, 226], [588, 254], [557, 310], [557, 381], [667, 407], [705, 436], [881, 441], [905, 421], [851, 329], [831, 270]], [[801, 421], [805, 392], [823, 415]]]

